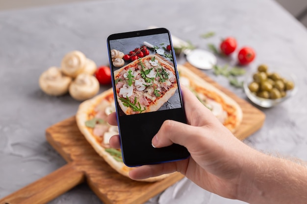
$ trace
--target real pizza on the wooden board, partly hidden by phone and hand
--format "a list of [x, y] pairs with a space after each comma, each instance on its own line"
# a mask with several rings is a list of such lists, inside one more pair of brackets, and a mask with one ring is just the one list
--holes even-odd
[[[129, 68], [132, 67], [125, 69], [126, 73]], [[178, 65], [178, 70], [180, 84], [188, 87], [221, 123], [234, 132], [242, 120], [240, 106], [224, 92], [206, 82], [190, 69]], [[132, 69], [131, 71], [135, 70]], [[125, 79], [123, 81], [126, 83]], [[120, 96], [117, 94], [117, 97]], [[158, 99], [159, 97], [156, 98]], [[146, 106], [144, 107], [146, 108]], [[114, 170], [128, 177], [128, 173], [133, 167], [126, 166], [123, 162], [121, 150], [111, 148], [109, 144], [110, 137], [119, 134], [117, 126], [111, 126], [106, 122], [107, 115], [115, 112], [115, 110], [113, 90], [109, 89], [79, 105], [76, 114], [77, 126], [95, 151]], [[131, 111], [132, 109], [130, 108], [129, 110]], [[168, 176], [169, 174], [166, 174], [141, 181], [160, 181]]]

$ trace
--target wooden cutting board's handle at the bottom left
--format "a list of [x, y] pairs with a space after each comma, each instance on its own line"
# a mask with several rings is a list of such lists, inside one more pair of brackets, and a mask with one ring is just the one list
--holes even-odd
[[74, 162], [0, 199], [0, 204], [46, 204], [83, 182], [85, 175]]

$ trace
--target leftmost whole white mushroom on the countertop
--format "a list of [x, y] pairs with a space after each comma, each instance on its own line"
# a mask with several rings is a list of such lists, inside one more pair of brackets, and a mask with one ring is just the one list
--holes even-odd
[[48, 95], [63, 95], [68, 92], [72, 78], [64, 76], [59, 68], [51, 67], [39, 77], [39, 86]]

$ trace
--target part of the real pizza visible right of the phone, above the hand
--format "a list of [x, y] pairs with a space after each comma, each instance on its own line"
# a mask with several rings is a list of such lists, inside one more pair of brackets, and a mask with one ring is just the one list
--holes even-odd
[[178, 65], [177, 68], [179, 83], [189, 88], [220, 122], [233, 133], [240, 125], [243, 117], [242, 109], [238, 103], [190, 69], [183, 65]]

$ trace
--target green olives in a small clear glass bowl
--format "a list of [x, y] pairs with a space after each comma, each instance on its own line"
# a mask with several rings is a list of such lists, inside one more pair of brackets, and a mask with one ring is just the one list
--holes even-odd
[[258, 66], [247, 74], [243, 87], [247, 97], [258, 106], [270, 108], [297, 91], [296, 78], [291, 73], [270, 71], [267, 65]]

